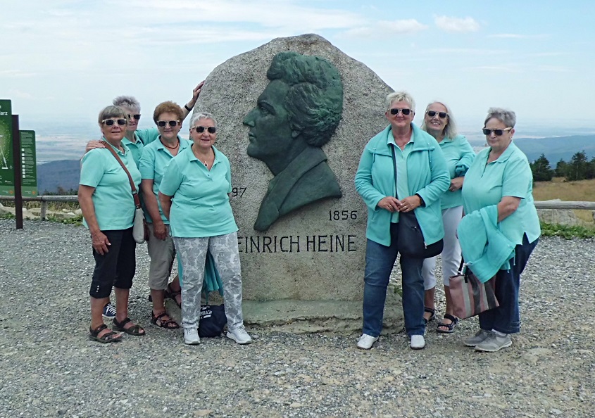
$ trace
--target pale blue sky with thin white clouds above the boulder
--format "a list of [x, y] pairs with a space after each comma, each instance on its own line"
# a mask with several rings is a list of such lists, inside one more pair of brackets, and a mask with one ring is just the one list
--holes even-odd
[[0, 10], [0, 98], [25, 124], [96, 126], [120, 94], [149, 115], [185, 103], [228, 58], [313, 32], [413, 94], [419, 114], [440, 99], [477, 129], [502, 106], [519, 126], [595, 130], [592, 0], [20, 0]]

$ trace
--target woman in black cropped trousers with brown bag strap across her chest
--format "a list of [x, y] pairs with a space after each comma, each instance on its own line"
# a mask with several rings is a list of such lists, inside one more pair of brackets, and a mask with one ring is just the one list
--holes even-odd
[[[111, 147], [126, 166], [137, 187], [141, 176], [130, 148], [122, 144], [128, 115], [118, 106], [99, 113], [99, 127], [106, 147]], [[91, 282], [91, 327], [89, 338], [100, 343], [120, 341], [118, 334], [104, 324], [101, 312], [109, 300], [112, 286], [118, 312], [112, 328], [134, 336], [144, 329], [128, 317], [128, 296], [136, 269], [132, 238], [134, 198], [124, 168], [108, 148], [92, 149], [82, 158], [78, 198], [84, 225], [91, 232], [95, 270]]]

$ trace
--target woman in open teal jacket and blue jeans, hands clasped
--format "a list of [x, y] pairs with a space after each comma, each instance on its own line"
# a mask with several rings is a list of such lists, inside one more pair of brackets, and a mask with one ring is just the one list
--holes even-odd
[[[382, 331], [387, 286], [397, 255], [399, 213], [415, 210], [425, 242], [439, 241], [444, 236], [440, 198], [450, 184], [437, 141], [413, 125], [413, 98], [404, 91], [391, 93], [386, 106], [390, 125], [365, 146], [355, 179], [356, 190], [368, 206], [363, 334], [358, 339], [358, 348], [364, 350]], [[401, 255], [403, 314], [413, 349], [425, 347], [422, 264], [422, 258]]]

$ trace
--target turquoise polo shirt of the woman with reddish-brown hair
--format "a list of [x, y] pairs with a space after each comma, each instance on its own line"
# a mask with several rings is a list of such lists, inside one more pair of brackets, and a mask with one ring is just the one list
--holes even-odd
[[[177, 139], [180, 141], [180, 149], [178, 150], [178, 154], [181, 153], [182, 150], [192, 145], [192, 141], [189, 139], [182, 139], [180, 137], [177, 137]], [[139, 171], [141, 172], [142, 179], [153, 180], [153, 193], [155, 194], [155, 197], [157, 197], [159, 185], [163, 179], [165, 165], [168, 165], [172, 158], [173, 156], [171, 155], [170, 150], [166, 148], [165, 145], [161, 143], [161, 141], [153, 141], [151, 144], [144, 147], [144, 151], [142, 152], [141, 160], [139, 162]], [[159, 206], [161, 220], [163, 220], [164, 224], [169, 224], [170, 221], [167, 217], [165, 217], [165, 215], [163, 215], [163, 210], [161, 209], [161, 202], [159, 199], [157, 199], [157, 204]], [[146, 217], [146, 222], [153, 223], [153, 220], [151, 220], [151, 215], [149, 215], [149, 211], [145, 210], [144, 216]]]

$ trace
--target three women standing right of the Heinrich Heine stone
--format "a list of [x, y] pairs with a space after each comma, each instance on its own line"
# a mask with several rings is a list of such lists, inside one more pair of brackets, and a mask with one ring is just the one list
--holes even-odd
[[[387, 96], [385, 115], [389, 126], [368, 141], [355, 177], [356, 189], [368, 206], [363, 333], [358, 348], [372, 348], [382, 331], [389, 276], [399, 253], [399, 214], [411, 211], [427, 245], [444, 239], [441, 260], [446, 309], [438, 332], [452, 333], [458, 323], [449, 277], [457, 274], [466, 248], [475, 256], [477, 248], [481, 253], [490, 245], [488, 241], [478, 243], [477, 235], [489, 236], [496, 230], [513, 248], [509, 260], [490, 266], [490, 271], [497, 271], [499, 308], [482, 312], [480, 330], [464, 342], [486, 352], [511, 346], [511, 334], [520, 331], [520, 274], [540, 234], [532, 172], [525, 154], [512, 141], [515, 113], [489, 109], [483, 128], [487, 147], [477, 156], [465, 137], [457, 134], [445, 103], [430, 103], [418, 128], [413, 124], [413, 98], [406, 92], [392, 93]], [[482, 212], [491, 217], [480, 216]], [[482, 228], [486, 234], [477, 234]], [[484, 261], [494, 264], [493, 260]], [[399, 262], [405, 330], [410, 347], [421, 349], [425, 347], [425, 327], [435, 317], [436, 258], [401, 254]], [[477, 265], [486, 270], [484, 263]], [[475, 265], [469, 268], [477, 275], [482, 273], [474, 271]]]

